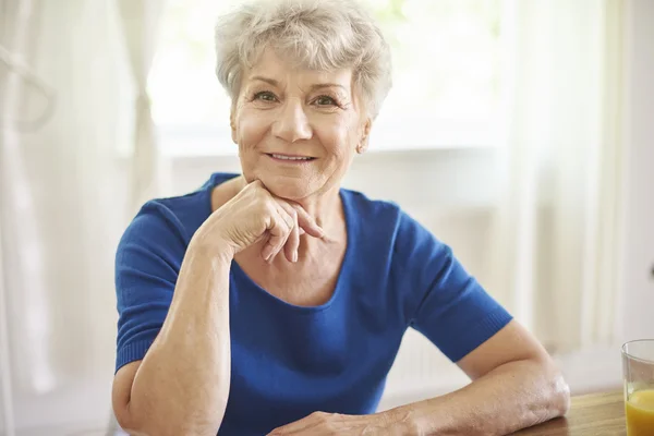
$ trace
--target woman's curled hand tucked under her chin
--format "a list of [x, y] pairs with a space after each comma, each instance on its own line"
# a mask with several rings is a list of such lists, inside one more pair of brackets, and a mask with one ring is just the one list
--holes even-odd
[[194, 240], [217, 245], [222, 252], [227, 250], [230, 258], [266, 240], [262, 250], [266, 262], [271, 262], [282, 249], [289, 262], [296, 262], [302, 233], [315, 238], [324, 235], [323, 229], [302, 206], [274, 196], [257, 180], [215, 210]]

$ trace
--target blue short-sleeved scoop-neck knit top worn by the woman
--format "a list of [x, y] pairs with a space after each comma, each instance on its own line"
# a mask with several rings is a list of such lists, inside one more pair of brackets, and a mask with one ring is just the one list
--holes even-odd
[[[216, 173], [146, 203], [118, 247], [116, 371], [143, 359], [168, 313], [189, 242], [211, 213]], [[458, 361], [511, 316], [397, 205], [341, 190], [348, 246], [319, 306], [289, 304], [230, 269], [231, 388], [219, 435], [264, 435], [314, 411], [374, 413], [408, 327]]]

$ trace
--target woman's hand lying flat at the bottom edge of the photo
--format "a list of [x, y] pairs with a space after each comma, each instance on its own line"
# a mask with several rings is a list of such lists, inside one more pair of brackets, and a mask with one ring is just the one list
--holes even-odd
[[282, 427], [275, 428], [268, 436], [361, 436], [361, 435], [405, 435], [409, 427], [403, 423], [388, 420], [384, 413], [372, 415], [343, 415], [340, 413], [314, 412]]

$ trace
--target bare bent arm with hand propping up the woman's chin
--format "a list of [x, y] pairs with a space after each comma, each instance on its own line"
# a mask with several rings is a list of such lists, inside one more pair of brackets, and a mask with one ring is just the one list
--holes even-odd
[[[143, 361], [123, 366], [114, 377], [113, 410], [123, 428], [135, 435], [216, 435], [230, 384], [231, 261], [264, 240], [264, 258], [283, 250], [294, 262], [300, 230], [323, 237], [300, 205], [274, 197], [261, 182], [246, 185], [201, 226], [186, 249], [157, 338]], [[138, 272], [160, 280], [156, 272]], [[142, 286], [150, 284], [135, 287]], [[130, 307], [132, 313], [144, 310]]]

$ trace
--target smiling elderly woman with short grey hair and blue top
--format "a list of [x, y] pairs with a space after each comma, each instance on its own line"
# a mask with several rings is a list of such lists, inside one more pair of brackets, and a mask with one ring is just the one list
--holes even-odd
[[[113, 410], [136, 435], [501, 435], [566, 412], [543, 347], [397, 205], [340, 189], [390, 88], [358, 4], [216, 31], [242, 174], [148, 202], [117, 254]], [[408, 327], [473, 380], [376, 412]]]

